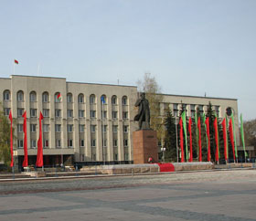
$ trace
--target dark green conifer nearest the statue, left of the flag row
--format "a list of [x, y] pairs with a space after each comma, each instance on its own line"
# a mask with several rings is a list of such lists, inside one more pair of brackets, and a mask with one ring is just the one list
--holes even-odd
[[176, 119], [172, 110], [169, 108], [165, 111], [165, 158], [169, 161], [176, 161]]

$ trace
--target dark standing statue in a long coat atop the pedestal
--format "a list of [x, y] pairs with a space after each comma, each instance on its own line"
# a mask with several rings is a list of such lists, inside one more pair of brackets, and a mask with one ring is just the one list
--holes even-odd
[[135, 107], [139, 107], [138, 114], [134, 117], [134, 121], [139, 121], [139, 130], [150, 129], [149, 102], [145, 99], [144, 93], [141, 93], [141, 98], [135, 102]]

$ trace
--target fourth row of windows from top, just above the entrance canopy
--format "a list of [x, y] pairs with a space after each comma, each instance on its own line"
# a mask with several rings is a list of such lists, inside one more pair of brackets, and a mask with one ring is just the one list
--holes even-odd
[[[103, 147], [107, 147], [107, 139], [104, 139], [104, 141], [102, 141]], [[60, 139], [56, 139], [55, 140], [55, 144], [56, 144], [56, 148], [61, 148], [61, 140]], [[118, 147], [118, 140], [114, 139], [113, 142], [113, 147]], [[24, 142], [23, 140], [17, 140], [17, 148], [23, 148]], [[85, 146], [85, 141], [84, 139], [80, 139], [80, 147], [84, 147]], [[123, 146], [124, 147], [128, 147], [128, 140], [124, 139], [123, 140]], [[44, 148], [48, 148], [49, 147], [49, 142], [48, 139], [44, 139], [43, 140], [43, 147]], [[68, 147], [73, 147], [73, 140], [72, 139], [68, 139]], [[91, 147], [96, 147], [96, 139], [91, 139]], [[37, 141], [36, 140], [30, 140], [30, 148], [35, 149], [37, 148]]]

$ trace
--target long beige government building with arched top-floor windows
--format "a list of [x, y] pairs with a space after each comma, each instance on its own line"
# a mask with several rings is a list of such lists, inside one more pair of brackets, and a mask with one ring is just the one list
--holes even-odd
[[[193, 117], [197, 108], [205, 112], [209, 101], [219, 118], [223, 118], [231, 110], [239, 143], [237, 100], [165, 94], [161, 96], [163, 101], [159, 105], [162, 117], [167, 107], [177, 116], [181, 106], [187, 110], [187, 117]], [[44, 116], [42, 131], [46, 165], [67, 161], [131, 163], [133, 132], [138, 129], [137, 123], [133, 121], [137, 111], [134, 108], [137, 98], [137, 88], [133, 86], [17, 75], [0, 79], [0, 102], [5, 115], [12, 110], [15, 119], [14, 155], [19, 165], [24, 155], [22, 115], [25, 111], [29, 164], [36, 163], [40, 111]]]

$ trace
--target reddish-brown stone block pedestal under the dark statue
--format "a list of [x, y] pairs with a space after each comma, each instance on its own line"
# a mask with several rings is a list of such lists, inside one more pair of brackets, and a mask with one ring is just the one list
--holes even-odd
[[152, 157], [153, 162], [158, 162], [158, 148], [156, 132], [152, 130], [141, 130], [133, 132], [133, 163], [148, 163]]

